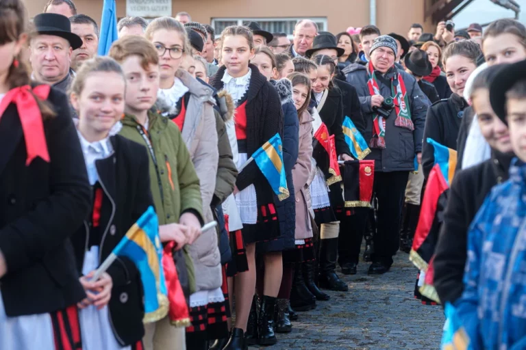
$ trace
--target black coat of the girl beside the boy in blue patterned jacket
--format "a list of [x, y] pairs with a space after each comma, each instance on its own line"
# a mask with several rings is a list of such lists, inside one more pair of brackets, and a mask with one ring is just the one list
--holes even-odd
[[434, 258], [434, 286], [442, 305], [464, 290], [468, 228], [494, 185], [508, 180], [510, 154], [493, 151], [492, 159], [455, 174]]

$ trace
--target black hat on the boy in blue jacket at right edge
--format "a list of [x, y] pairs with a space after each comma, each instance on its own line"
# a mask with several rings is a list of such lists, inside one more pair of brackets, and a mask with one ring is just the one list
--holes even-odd
[[490, 83], [491, 107], [505, 124], [508, 124], [506, 122], [506, 92], [521, 80], [526, 80], [526, 60], [506, 64]]

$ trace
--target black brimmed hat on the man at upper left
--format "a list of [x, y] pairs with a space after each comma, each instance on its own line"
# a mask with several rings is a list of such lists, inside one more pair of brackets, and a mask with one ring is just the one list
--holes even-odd
[[47, 36], [58, 36], [68, 40], [73, 50], [82, 46], [82, 39], [75, 33], [71, 33], [69, 18], [62, 14], [37, 14], [33, 18], [36, 33]]

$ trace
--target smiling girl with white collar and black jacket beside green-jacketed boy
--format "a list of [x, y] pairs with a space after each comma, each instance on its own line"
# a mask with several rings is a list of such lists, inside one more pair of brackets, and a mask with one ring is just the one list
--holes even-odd
[[[77, 134], [92, 187], [91, 213], [71, 237], [80, 282], [87, 297], [77, 304], [84, 349], [142, 349], [140, 273], [134, 262], [120, 257], [95, 282], [95, 269], [118, 245], [137, 219], [153, 206], [145, 147], [121, 135], [125, 77], [109, 57], [86, 61], [71, 85], [77, 112]], [[164, 305], [159, 318], [164, 317]], [[147, 315], [151, 318], [152, 315]]]

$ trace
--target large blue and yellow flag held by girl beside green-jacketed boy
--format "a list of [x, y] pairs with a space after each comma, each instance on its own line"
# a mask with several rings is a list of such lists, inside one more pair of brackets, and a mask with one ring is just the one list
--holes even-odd
[[112, 254], [126, 256], [140, 272], [145, 300], [145, 323], [163, 319], [168, 314], [168, 292], [162, 269], [162, 245], [159, 222], [153, 207], [142, 214], [114, 248]]

